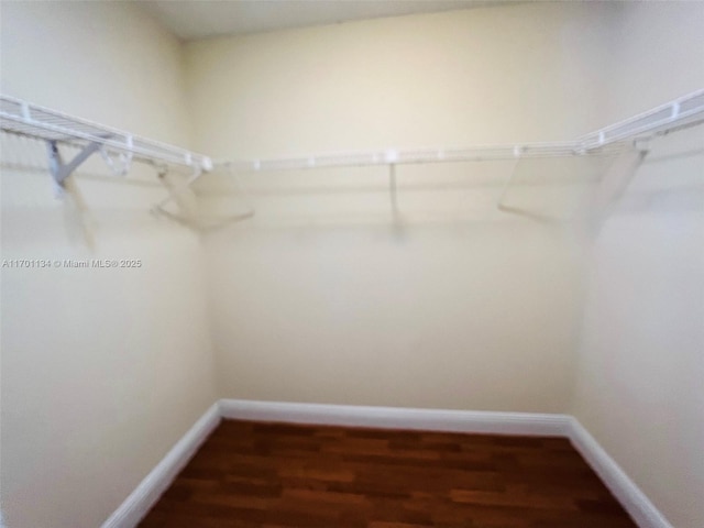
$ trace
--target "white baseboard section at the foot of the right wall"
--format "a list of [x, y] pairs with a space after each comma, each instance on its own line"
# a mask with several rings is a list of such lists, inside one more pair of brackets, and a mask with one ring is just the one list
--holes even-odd
[[570, 440], [640, 528], [673, 528], [576, 418], [572, 418]]

